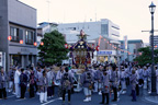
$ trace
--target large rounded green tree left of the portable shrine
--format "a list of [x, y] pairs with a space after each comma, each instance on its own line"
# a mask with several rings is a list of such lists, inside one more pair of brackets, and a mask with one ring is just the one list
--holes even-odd
[[47, 65], [61, 63], [68, 59], [68, 49], [65, 48], [65, 37], [58, 31], [46, 33], [42, 39], [44, 45], [40, 45], [38, 52], [40, 61]]

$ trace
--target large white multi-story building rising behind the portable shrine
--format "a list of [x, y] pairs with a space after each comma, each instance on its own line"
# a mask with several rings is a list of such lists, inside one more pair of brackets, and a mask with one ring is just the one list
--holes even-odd
[[[98, 22], [58, 24], [58, 31], [67, 35], [66, 37], [67, 42], [77, 39], [75, 38], [76, 34], [77, 33], [79, 34], [81, 30], [83, 30], [86, 34], [90, 35], [90, 37], [88, 37], [88, 40], [95, 39], [100, 35], [112, 40], [119, 40], [119, 37], [120, 37], [120, 26], [114, 24], [108, 19], [102, 19], [101, 21], [98, 21]], [[72, 35], [75, 37], [72, 37]]]

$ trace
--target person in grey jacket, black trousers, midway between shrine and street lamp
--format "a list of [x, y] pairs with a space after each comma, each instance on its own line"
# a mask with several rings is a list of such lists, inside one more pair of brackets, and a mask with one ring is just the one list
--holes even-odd
[[117, 101], [117, 72], [116, 72], [116, 66], [112, 66], [112, 72], [111, 72], [111, 82], [112, 82], [112, 89], [114, 92], [114, 100], [113, 102]]

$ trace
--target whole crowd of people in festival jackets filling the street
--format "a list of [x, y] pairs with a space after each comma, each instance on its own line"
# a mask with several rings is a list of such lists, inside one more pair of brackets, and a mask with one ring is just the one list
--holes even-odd
[[[132, 101], [136, 101], [139, 95], [139, 89], [151, 92], [151, 66], [136, 66], [133, 63], [92, 65], [83, 69], [81, 79], [77, 79], [78, 68], [76, 66], [61, 66], [60, 70], [55, 71], [55, 66], [49, 67], [11, 67], [9, 72], [0, 69], [0, 100], [7, 100], [7, 89], [15, 94], [18, 98], [25, 98], [25, 92], [29, 91], [30, 98], [35, 94], [40, 95], [40, 102], [45, 103], [47, 98], [55, 96], [55, 89], [58, 90], [58, 97], [65, 103], [66, 93], [68, 102], [71, 101], [75, 83], [80, 82], [84, 100], [92, 101], [92, 95], [98, 92], [102, 95], [100, 104], [110, 103], [111, 94], [114, 94], [113, 102], [116, 102], [119, 94], [126, 94], [127, 86], [131, 85]], [[158, 67], [156, 70], [156, 83], [158, 94]], [[9, 84], [9, 86], [8, 86]]]

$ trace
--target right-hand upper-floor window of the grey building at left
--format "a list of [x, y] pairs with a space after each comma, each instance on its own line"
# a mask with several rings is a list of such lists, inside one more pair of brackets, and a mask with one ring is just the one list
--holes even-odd
[[32, 31], [26, 31], [25, 32], [25, 43], [33, 45], [34, 40], [34, 33]]

